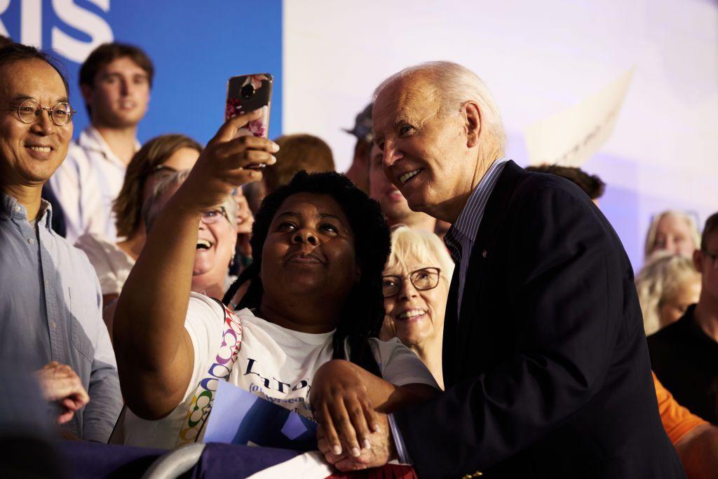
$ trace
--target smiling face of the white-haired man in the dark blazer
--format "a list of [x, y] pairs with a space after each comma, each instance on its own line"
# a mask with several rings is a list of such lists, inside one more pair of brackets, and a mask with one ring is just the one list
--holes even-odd
[[470, 192], [476, 159], [460, 106], [442, 111], [435, 92], [418, 76], [395, 80], [376, 98], [373, 123], [386, 177], [412, 210], [440, 218]]

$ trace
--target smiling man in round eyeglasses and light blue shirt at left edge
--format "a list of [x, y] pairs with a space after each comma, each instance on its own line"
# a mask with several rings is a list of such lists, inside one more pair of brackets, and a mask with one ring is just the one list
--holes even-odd
[[0, 355], [37, 371], [67, 436], [105, 442], [121, 394], [97, 276], [41, 199], [73, 134], [67, 82], [19, 44], [0, 49], [0, 78]]

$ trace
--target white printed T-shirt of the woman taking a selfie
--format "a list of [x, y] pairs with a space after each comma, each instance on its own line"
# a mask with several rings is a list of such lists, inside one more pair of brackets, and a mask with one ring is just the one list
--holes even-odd
[[[289, 330], [256, 317], [248, 309], [237, 315], [242, 322], [242, 345], [228, 382], [314, 419], [309, 389], [317, 369], [332, 359], [334, 332]], [[220, 348], [224, 312], [213, 299], [192, 293], [185, 329], [192, 339], [195, 365], [182, 402], [157, 421], [140, 419], [128, 410], [123, 424], [125, 444], [165, 449], [177, 445], [197, 384], [206, 376]], [[424, 363], [398, 339], [385, 342], [371, 338], [369, 344], [386, 381], [396, 386], [420, 383], [439, 389]]]

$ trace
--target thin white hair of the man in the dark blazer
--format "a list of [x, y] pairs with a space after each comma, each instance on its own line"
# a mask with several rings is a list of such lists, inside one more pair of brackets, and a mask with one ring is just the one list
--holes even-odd
[[376, 87], [373, 101], [381, 91], [396, 80], [421, 75], [429, 80], [436, 89], [442, 113], [456, 113], [467, 101], [475, 101], [481, 112], [482, 129], [488, 133], [487, 140], [492, 142], [499, 154], [506, 149], [506, 134], [503, 129], [498, 106], [484, 81], [468, 68], [454, 62], [424, 62], [404, 68], [394, 73]]

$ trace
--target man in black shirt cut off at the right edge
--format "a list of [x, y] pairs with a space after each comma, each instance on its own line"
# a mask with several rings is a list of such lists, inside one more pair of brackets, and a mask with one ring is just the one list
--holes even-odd
[[718, 424], [718, 213], [708, 220], [693, 264], [701, 274], [698, 303], [648, 337], [651, 364], [676, 400]]

